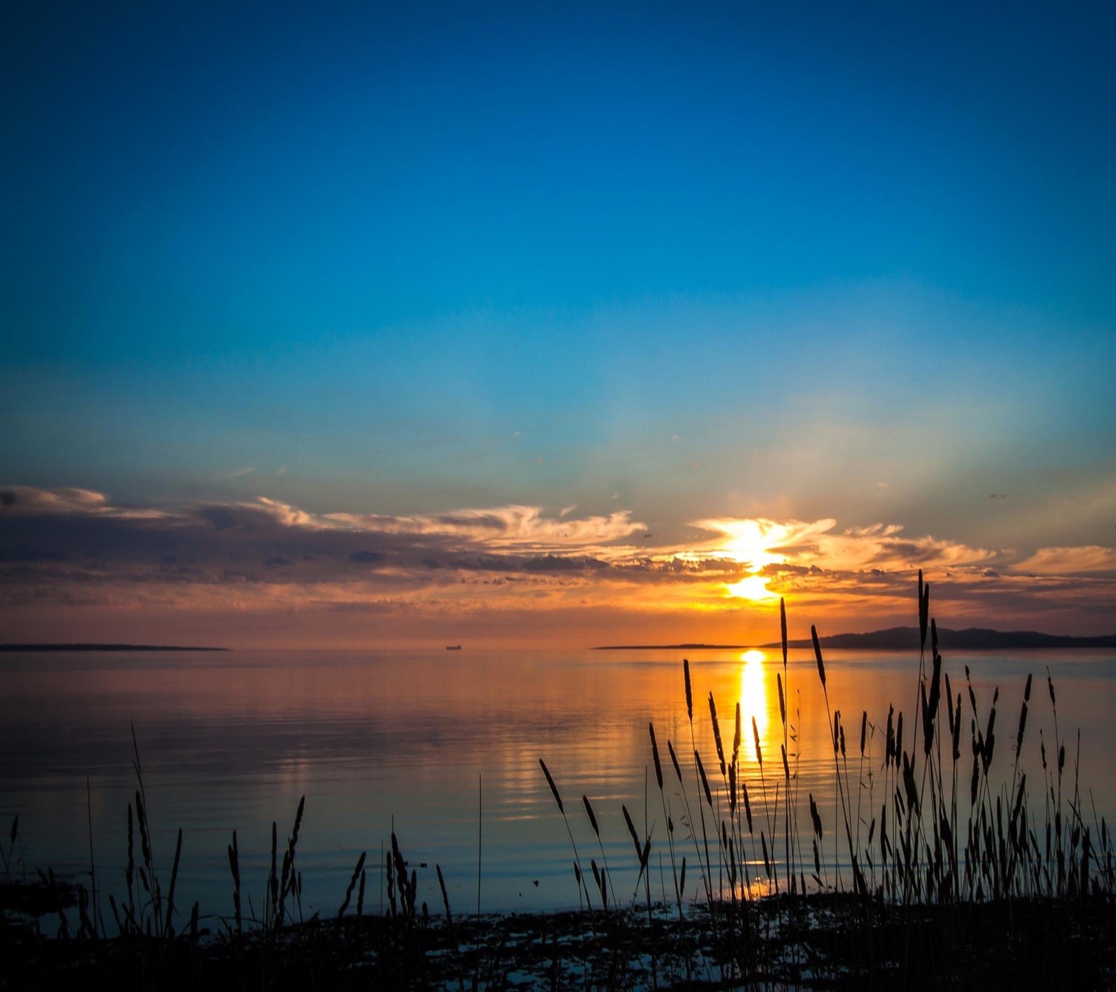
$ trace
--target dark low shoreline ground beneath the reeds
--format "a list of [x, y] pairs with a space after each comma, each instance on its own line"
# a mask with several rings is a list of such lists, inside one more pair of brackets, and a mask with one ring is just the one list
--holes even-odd
[[[1116, 902], [895, 905], [850, 894], [747, 904], [315, 917], [237, 933], [183, 922], [174, 937], [47, 936], [4, 915], [9, 988], [738, 989], [1110, 988]], [[54, 917], [57, 923], [57, 917]]]

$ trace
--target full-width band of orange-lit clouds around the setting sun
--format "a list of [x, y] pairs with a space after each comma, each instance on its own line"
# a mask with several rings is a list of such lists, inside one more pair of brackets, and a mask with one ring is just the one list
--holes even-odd
[[[0, 609], [25, 626], [47, 617], [158, 616], [172, 627], [184, 617], [278, 617], [329, 638], [375, 618], [400, 637], [468, 627], [527, 638], [554, 628], [576, 641], [589, 636], [583, 622], [591, 617], [593, 629], [612, 623], [622, 639], [668, 628], [679, 639], [735, 630], [730, 639], [754, 632], [763, 642], [780, 597], [796, 617], [831, 632], [910, 623], [918, 568], [951, 623], [984, 626], [1018, 626], [1013, 617], [1054, 630], [1071, 617], [1104, 626], [1116, 586], [1110, 548], [1024, 557], [828, 518], [701, 519], [692, 541], [666, 547], [626, 510], [578, 517], [574, 507], [516, 504], [386, 516], [311, 513], [266, 498], [118, 507], [88, 490], [0, 494]], [[247, 619], [232, 627], [253, 629]]]

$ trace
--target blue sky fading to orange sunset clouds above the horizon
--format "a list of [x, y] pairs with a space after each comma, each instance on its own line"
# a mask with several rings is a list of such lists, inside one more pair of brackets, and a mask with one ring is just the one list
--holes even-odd
[[0, 639], [1116, 630], [1106, 4], [23, 4]]

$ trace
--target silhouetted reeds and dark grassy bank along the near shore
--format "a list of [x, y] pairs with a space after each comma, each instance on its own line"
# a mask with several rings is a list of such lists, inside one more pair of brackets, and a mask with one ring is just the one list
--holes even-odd
[[[998, 724], [999, 688], [979, 699], [968, 670], [963, 686], [951, 681], [921, 572], [918, 619], [914, 706], [904, 714], [893, 704], [886, 720], [831, 706], [824, 641], [811, 627], [826, 763], [833, 751], [825, 802], [801, 794], [790, 676], [804, 676], [788, 670], [781, 604], [781, 670], [772, 663], [781, 725], [772, 716], [769, 739], [781, 763], [764, 768], [759, 730], [753, 720], [749, 741], [739, 703], [723, 721], [731, 739], [712, 693], [709, 723], [700, 699], [695, 720], [684, 661], [686, 720], [675, 726], [689, 741], [657, 738], [648, 724], [651, 813], [622, 807], [634, 889], [605, 856], [603, 801], [564, 798], [562, 770], [540, 755], [556, 829], [569, 838], [576, 911], [454, 912], [441, 866], [437, 887], [420, 890], [393, 832], [367, 866], [367, 853], [359, 856], [336, 912], [307, 918], [297, 857], [305, 797], [286, 845], [272, 824], [262, 886], [241, 877], [233, 831], [230, 904], [204, 914], [179, 905], [182, 830], [173, 860], [161, 850], [156, 871], [133, 732], [123, 878], [97, 874], [92, 835], [81, 879], [26, 866], [18, 817], [0, 841], [0, 988], [1113, 988], [1116, 858], [1078, 779], [1079, 738], [1058, 725], [1049, 670], [1035, 700], [1027, 676], [1018, 722]], [[1041, 768], [1024, 768], [1028, 713], [1040, 702], [1052, 734], [1040, 728]], [[998, 734], [1007, 738], [999, 748]], [[744, 762], [752, 743], [754, 762]], [[368, 909], [369, 882], [386, 887], [381, 912]]]

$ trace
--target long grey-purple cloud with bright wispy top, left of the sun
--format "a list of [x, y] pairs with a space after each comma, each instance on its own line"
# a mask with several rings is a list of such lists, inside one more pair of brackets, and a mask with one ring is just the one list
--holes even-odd
[[[631, 552], [623, 542], [644, 524], [629, 511], [548, 516], [539, 507], [461, 509], [436, 514], [310, 513], [261, 497], [251, 502], [122, 508], [88, 490], [8, 487], [0, 511], [0, 561], [69, 562], [87, 579], [166, 579], [165, 562], [190, 562], [201, 580], [229, 568], [244, 580], [345, 579], [353, 564], [411, 575], [431, 562], [462, 570], [567, 572], [602, 569]], [[480, 564], [480, 565], [478, 565]], [[269, 574], [263, 575], [262, 569]]]

